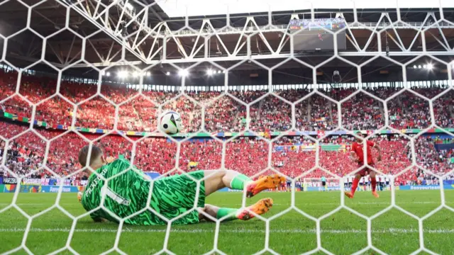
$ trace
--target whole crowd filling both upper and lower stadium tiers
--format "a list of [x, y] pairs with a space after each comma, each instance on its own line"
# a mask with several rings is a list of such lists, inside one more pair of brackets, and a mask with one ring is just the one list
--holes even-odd
[[[1, 94], [13, 94], [16, 85], [17, 74], [14, 72], [2, 72]], [[22, 77], [21, 90], [23, 96], [32, 103], [43, 101], [55, 93], [52, 79], [37, 77]], [[47, 86], [43, 86], [47, 84]], [[61, 94], [69, 101], [78, 103], [89, 98], [96, 91], [93, 84], [75, 84], [62, 81]], [[429, 98], [443, 91], [444, 86], [434, 86], [426, 89], [415, 89], [421, 95]], [[380, 98], [388, 98], [396, 89], [377, 88], [368, 90]], [[121, 103], [133, 96], [135, 89], [114, 89], [110, 86], [101, 86], [101, 92], [114, 101]], [[297, 101], [309, 94], [310, 91], [303, 89], [290, 89], [277, 91], [279, 96], [288, 101]], [[323, 91], [326, 96], [341, 100], [355, 92], [354, 89], [333, 89]], [[233, 91], [233, 96], [250, 103], [260, 98], [263, 91]], [[165, 95], [165, 96], [164, 96]], [[206, 130], [211, 132], [238, 132], [245, 127], [245, 106], [233, 100], [230, 96], [223, 96], [213, 101], [212, 98], [220, 95], [214, 91], [187, 92], [201, 106], [205, 106]], [[157, 104], [176, 96], [169, 92], [143, 91], [143, 96], [138, 96], [129, 103], [119, 107], [118, 130], [152, 131], [156, 127]], [[452, 128], [454, 121], [452, 104], [453, 98], [445, 96], [439, 98], [433, 105], [436, 121], [441, 128]], [[153, 103], [154, 102], [154, 103]], [[0, 123], [1, 134], [6, 138], [26, 130], [28, 126], [15, 121], [20, 118], [30, 118], [31, 108], [18, 96], [14, 96], [2, 104], [5, 113], [16, 115], [16, 118], [2, 118]], [[197, 132], [201, 130], [201, 108], [187, 97], [179, 97], [175, 101], [162, 106], [171, 108], [182, 114], [186, 128], [183, 132]], [[342, 104], [342, 123], [347, 130], [377, 130], [384, 125], [384, 107], [366, 94], [356, 94]], [[416, 94], [406, 91], [397, 97], [397, 100], [388, 101], [387, 111], [389, 125], [396, 129], [424, 129], [430, 125], [430, 111], [428, 102]], [[36, 107], [35, 120], [47, 123], [47, 128], [36, 128], [38, 134], [48, 139], [62, 135], [63, 130], [54, 130], [55, 124], [62, 127], [70, 127], [72, 122], [73, 108], [60, 97], [46, 100]], [[322, 132], [334, 130], [337, 127], [337, 106], [327, 98], [315, 94], [307, 101], [296, 107], [295, 118], [297, 130]], [[112, 129], [114, 127], [115, 108], [104, 98], [99, 96], [82, 103], [77, 108], [75, 126], [82, 128]], [[250, 106], [250, 129], [271, 135], [275, 131], [284, 131], [291, 128], [292, 111], [289, 105], [282, 103], [275, 96], [262, 98]], [[394, 131], [393, 131], [394, 132]], [[88, 140], [99, 137], [95, 134], [82, 135]], [[140, 140], [135, 148], [135, 165], [143, 171], [155, 171], [165, 174], [175, 168], [177, 144], [167, 138], [130, 136], [128, 139], [120, 135], [109, 135], [98, 140], [106, 154], [117, 157], [123, 154], [131, 159], [131, 141]], [[377, 162], [377, 169], [383, 174], [398, 174], [411, 165], [411, 145], [406, 137], [400, 135], [380, 135], [372, 137], [372, 140], [380, 141], [384, 149], [384, 160]], [[415, 140], [416, 162], [423, 167], [431, 169], [433, 174], [444, 174], [452, 169], [451, 158], [453, 156], [453, 144], [449, 135], [444, 133], [426, 133]], [[439, 149], [437, 144], [445, 143], [445, 147]], [[330, 171], [333, 176], [345, 176], [354, 171], [357, 166], [348, 158], [349, 146], [353, 142], [348, 135], [331, 135], [321, 141], [319, 166]], [[67, 133], [50, 142], [50, 151], [47, 161], [44, 162], [46, 144], [38, 135], [27, 132], [25, 135], [12, 140], [9, 143], [6, 167], [13, 173], [25, 175], [28, 172], [47, 166], [56, 174], [68, 175], [77, 171], [82, 166], [77, 163], [78, 148], [87, 144], [80, 135], [74, 132]], [[342, 145], [337, 149], [325, 149], [323, 145]], [[275, 166], [282, 174], [292, 178], [304, 175], [316, 166], [314, 141], [307, 137], [290, 136], [281, 137], [271, 145], [258, 137], [238, 137], [226, 143], [225, 166], [228, 169], [236, 169], [253, 176], [267, 169], [267, 162], [261, 160], [267, 157], [269, 147], [272, 147], [272, 166]], [[2, 148], [4, 142], [2, 142]], [[183, 142], [179, 157], [179, 166], [185, 169], [189, 162], [196, 162], [194, 169], [220, 169], [221, 168], [222, 144], [210, 137], [197, 138]], [[189, 170], [192, 168], [189, 167]], [[44, 168], [38, 172], [42, 176], [50, 176]], [[9, 175], [8, 172], [5, 173]], [[84, 174], [72, 178], [82, 178]], [[305, 177], [321, 177], [321, 171], [310, 172]], [[399, 181], [417, 181], [421, 171], [413, 167], [397, 178]], [[85, 176], [87, 177], [87, 176]], [[426, 174], [426, 179], [432, 177]], [[450, 178], [450, 176], [446, 177]]]

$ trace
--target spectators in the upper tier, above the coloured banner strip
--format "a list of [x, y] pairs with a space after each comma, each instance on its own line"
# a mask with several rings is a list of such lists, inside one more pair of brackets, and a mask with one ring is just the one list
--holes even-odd
[[[16, 90], [17, 75], [0, 70], [0, 100], [12, 95]], [[253, 131], [284, 131], [292, 128], [292, 106], [266, 91], [231, 91], [231, 95], [221, 96], [220, 92], [187, 91], [186, 95], [177, 92], [142, 91], [126, 89], [118, 85], [101, 85], [102, 96], [96, 96], [94, 84], [76, 84], [61, 81], [60, 94], [55, 96], [56, 81], [43, 77], [21, 78], [20, 96], [13, 96], [2, 103], [3, 111], [20, 117], [31, 117], [30, 103], [36, 106], [35, 120], [48, 125], [74, 125], [83, 128], [101, 128], [112, 130], [153, 131], [156, 127], [159, 106], [161, 111], [174, 110], [182, 115], [183, 132], [197, 132], [204, 128], [209, 132], [235, 132], [249, 129]], [[433, 98], [440, 94], [444, 85], [414, 89], [416, 93]], [[385, 99], [393, 96], [398, 89], [375, 88], [367, 90], [375, 96]], [[295, 102], [311, 91], [290, 89], [275, 91], [275, 94], [287, 101]], [[322, 91], [329, 98], [341, 100], [355, 89], [333, 89]], [[443, 128], [454, 128], [453, 91], [436, 99], [433, 111], [436, 124]], [[45, 98], [48, 98], [44, 101]], [[260, 100], [257, 100], [260, 98]], [[28, 102], [29, 101], [29, 102]], [[249, 119], [246, 106], [251, 103]], [[72, 103], [78, 103], [74, 108]], [[118, 106], [118, 118], [116, 116]], [[204, 108], [204, 122], [202, 122]], [[384, 125], [385, 108], [382, 102], [360, 93], [355, 94], [341, 104], [341, 124], [348, 130], [376, 130]], [[75, 113], [75, 116], [74, 116]], [[428, 128], [431, 125], [429, 103], [409, 91], [387, 101], [389, 125], [392, 128]], [[333, 130], [338, 127], [338, 106], [334, 101], [318, 94], [313, 94], [295, 105], [295, 122], [298, 130]], [[117, 120], [117, 121], [116, 121]], [[204, 127], [202, 127], [204, 123]]]

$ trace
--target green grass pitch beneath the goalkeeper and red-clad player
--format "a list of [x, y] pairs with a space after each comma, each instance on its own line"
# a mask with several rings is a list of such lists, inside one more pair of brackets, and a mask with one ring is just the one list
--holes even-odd
[[[389, 191], [380, 192], [374, 198], [370, 192], [358, 192], [355, 199], [345, 199], [345, 205], [363, 215], [372, 216], [390, 205]], [[291, 205], [291, 193], [261, 193], [247, 200], [248, 204], [260, 198], [270, 197], [273, 208], [265, 214], [271, 217], [287, 210]], [[339, 192], [298, 192], [295, 206], [314, 217], [321, 217], [338, 208]], [[56, 194], [20, 193], [16, 204], [29, 215], [50, 208]], [[0, 210], [11, 203], [13, 194], [0, 193]], [[215, 193], [206, 203], [222, 207], [238, 208], [240, 193]], [[445, 203], [454, 207], [454, 191], [445, 191]], [[76, 194], [63, 193], [59, 203], [72, 215], [82, 215], [84, 210], [77, 202]], [[396, 191], [396, 204], [416, 216], [422, 217], [441, 205], [440, 191]], [[454, 212], [442, 209], [423, 221], [423, 242], [427, 249], [438, 254], [454, 254]], [[21, 245], [26, 217], [10, 208], [0, 214], [0, 254]], [[34, 254], [48, 254], [67, 243], [72, 220], [57, 208], [36, 217], [31, 224], [26, 246]], [[175, 254], [203, 254], [214, 247], [216, 225], [204, 222], [197, 225], [172, 226], [167, 249]], [[99, 254], [114, 247], [118, 225], [94, 223], [83, 217], [77, 222], [70, 242], [79, 254]], [[270, 221], [270, 249], [279, 254], [301, 254], [316, 248], [316, 223], [289, 210]], [[387, 254], [410, 254], [419, 249], [418, 221], [397, 209], [389, 210], [372, 221], [372, 244]], [[166, 226], [136, 227], [125, 225], [118, 248], [128, 254], [154, 254], [165, 245]], [[248, 222], [221, 223], [218, 249], [226, 254], [253, 254], [265, 247], [265, 222], [253, 219]], [[321, 246], [333, 254], [351, 254], [367, 246], [367, 222], [348, 210], [339, 210], [321, 221]], [[17, 254], [25, 254], [19, 250]], [[70, 251], [62, 251], [70, 254]], [[323, 254], [319, 252], [318, 254]], [[366, 251], [365, 254], [375, 254]], [[421, 253], [425, 254], [425, 253]]]

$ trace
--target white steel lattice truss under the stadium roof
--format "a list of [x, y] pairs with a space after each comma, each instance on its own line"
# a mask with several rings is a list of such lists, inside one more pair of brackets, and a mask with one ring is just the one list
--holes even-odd
[[[338, 50], [339, 56], [418, 56], [425, 51], [430, 51], [434, 56], [452, 56], [454, 51], [450, 39], [454, 37], [454, 23], [446, 21], [439, 8], [428, 11], [363, 10], [361, 13], [311, 9], [291, 13], [226, 14], [176, 19], [168, 18], [157, 4], [140, 1], [68, 0], [34, 7], [33, 13], [48, 20], [53, 27], [65, 26], [77, 30], [82, 41], [78, 43], [75, 34], [72, 38], [47, 40], [50, 50], [46, 52], [55, 54], [53, 58], [50, 57], [54, 61], [49, 62], [60, 68], [68, 65], [102, 67], [123, 65], [125, 62], [177, 64], [323, 55], [323, 51], [294, 50], [294, 32], [289, 30], [289, 21], [292, 19], [317, 17], [345, 18], [346, 26], [342, 30], [347, 47]], [[45, 13], [55, 10], [63, 13], [65, 23], [59, 23], [59, 18]], [[405, 17], [409, 13], [408, 16], [417, 16], [414, 19], [418, 21], [404, 18], [401, 12], [405, 13]], [[452, 11], [449, 13], [451, 15]], [[366, 22], [367, 18], [362, 16], [374, 18]], [[4, 18], [8, 23], [8, 16]], [[104, 46], [100, 47], [100, 43]], [[33, 50], [30, 46], [27, 52], [16, 52], [13, 57], [35, 62], [40, 57], [33, 56], [33, 52], [40, 55], [39, 47]], [[86, 61], [74, 63], [81, 52], [86, 52]], [[326, 53], [333, 55], [333, 51]]]

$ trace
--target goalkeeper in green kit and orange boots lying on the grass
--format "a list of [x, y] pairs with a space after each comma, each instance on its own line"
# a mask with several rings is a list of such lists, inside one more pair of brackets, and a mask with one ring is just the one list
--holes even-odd
[[[270, 210], [272, 199], [264, 198], [247, 209], [240, 210], [205, 204], [206, 196], [225, 187], [237, 190], [243, 190], [246, 187], [247, 196], [250, 198], [265, 189], [276, 188], [285, 181], [283, 176], [277, 174], [251, 181], [248, 176], [237, 171], [221, 170], [192, 171], [187, 173], [192, 179], [186, 175], [175, 175], [152, 182], [142, 171], [131, 166], [128, 160], [106, 159], [99, 147], [92, 146], [90, 157], [89, 146], [83, 147], [79, 152], [79, 163], [87, 166], [87, 159], [90, 160], [89, 166], [96, 169], [98, 175], [92, 174], [89, 177], [84, 193], [78, 193], [77, 197], [84, 209], [91, 212], [90, 216], [95, 222], [104, 220], [118, 222], [114, 216], [116, 215], [125, 219], [124, 223], [130, 225], [166, 225], [167, 222], [157, 213], [169, 220], [182, 215], [172, 224], [192, 224], [201, 220], [210, 220], [198, 210], [192, 210], [194, 205], [215, 219], [228, 215], [225, 221], [249, 220], [254, 217], [251, 212], [262, 215]], [[114, 178], [104, 186], [105, 181], [101, 176], [104, 179], [113, 176]], [[199, 186], [194, 179], [199, 180]], [[153, 192], [148, 205], [154, 212], [143, 210], [147, 207], [150, 188], [153, 188]], [[197, 190], [199, 190], [199, 197], [195, 200]], [[105, 209], [99, 208], [103, 196]], [[137, 212], [139, 213], [135, 214]]]

